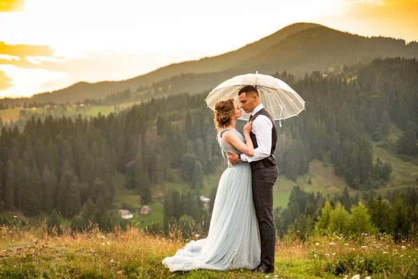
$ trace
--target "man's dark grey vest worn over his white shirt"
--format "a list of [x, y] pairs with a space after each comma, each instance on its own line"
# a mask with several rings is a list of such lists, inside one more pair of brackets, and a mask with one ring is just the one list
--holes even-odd
[[[251, 166], [251, 169], [262, 169], [262, 168], [266, 168], [266, 167], [277, 167], [276, 160], [274, 159], [274, 156], [273, 156], [274, 150], [276, 150], [276, 142], [277, 142], [277, 129], [276, 129], [276, 125], [274, 124], [274, 119], [268, 113], [268, 111], [263, 108], [259, 112], [254, 114], [254, 116], [252, 116], [250, 118], [250, 120], [256, 119], [258, 115], [267, 116], [268, 119], [270, 119], [270, 121], [272, 121], [272, 124], [273, 124], [273, 128], [272, 128], [272, 150], [270, 151], [270, 156], [268, 156], [267, 158], [264, 158], [263, 160], [252, 161], [251, 163], [249, 163], [249, 165]], [[254, 149], [256, 149], [258, 147], [256, 134], [251, 132], [251, 133], [249, 133], [249, 137], [251, 137], [251, 142], [254, 145]]]

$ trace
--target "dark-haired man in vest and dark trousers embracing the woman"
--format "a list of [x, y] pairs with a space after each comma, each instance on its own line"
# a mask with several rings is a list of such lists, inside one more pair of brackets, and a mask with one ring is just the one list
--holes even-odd
[[254, 156], [228, 151], [229, 162], [236, 164], [249, 162], [251, 166], [252, 191], [258, 229], [261, 239], [261, 262], [255, 269], [261, 273], [274, 272], [274, 248], [276, 247], [276, 229], [273, 216], [273, 186], [279, 175], [274, 149], [276, 149], [277, 129], [274, 119], [265, 110], [258, 98], [258, 91], [252, 85], [246, 85], [238, 92], [240, 105], [245, 112], [251, 112], [251, 142], [254, 144]]

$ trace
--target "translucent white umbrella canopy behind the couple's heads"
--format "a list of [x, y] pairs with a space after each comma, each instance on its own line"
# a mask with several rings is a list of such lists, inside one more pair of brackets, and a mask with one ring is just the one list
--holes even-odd
[[[206, 104], [215, 110], [215, 104], [219, 100], [233, 98], [238, 103], [238, 91], [245, 85], [256, 87], [261, 103], [274, 120], [297, 116], [305, 109], [305, 101], [286, 82], [258, 73], [238, 75], [222, 82], [208, 94]], [[242, 112], [240, 119], [248, 120], [249, 116], [249, 113]]]

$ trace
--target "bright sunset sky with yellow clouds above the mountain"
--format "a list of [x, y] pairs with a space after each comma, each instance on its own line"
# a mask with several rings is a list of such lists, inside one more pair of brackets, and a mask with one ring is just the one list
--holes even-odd
[[0, 0], [0, 98], [126, 80], [289, 24], [418, 41], [418, 0]]

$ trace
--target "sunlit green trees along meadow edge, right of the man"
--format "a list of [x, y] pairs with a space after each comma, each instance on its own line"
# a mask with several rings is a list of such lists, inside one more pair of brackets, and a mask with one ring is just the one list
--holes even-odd
[[292, 233], [301, 239], [314, 234], [361, 236], [369, 233], [392, 234], [395, 241], [415, 238], [418, 233], [418, 187], [385, 195], [366, 193], [350, 196], [307, 193], [294, 186], [288, 207], [278, 207], [274, 219], [279, 236]]

